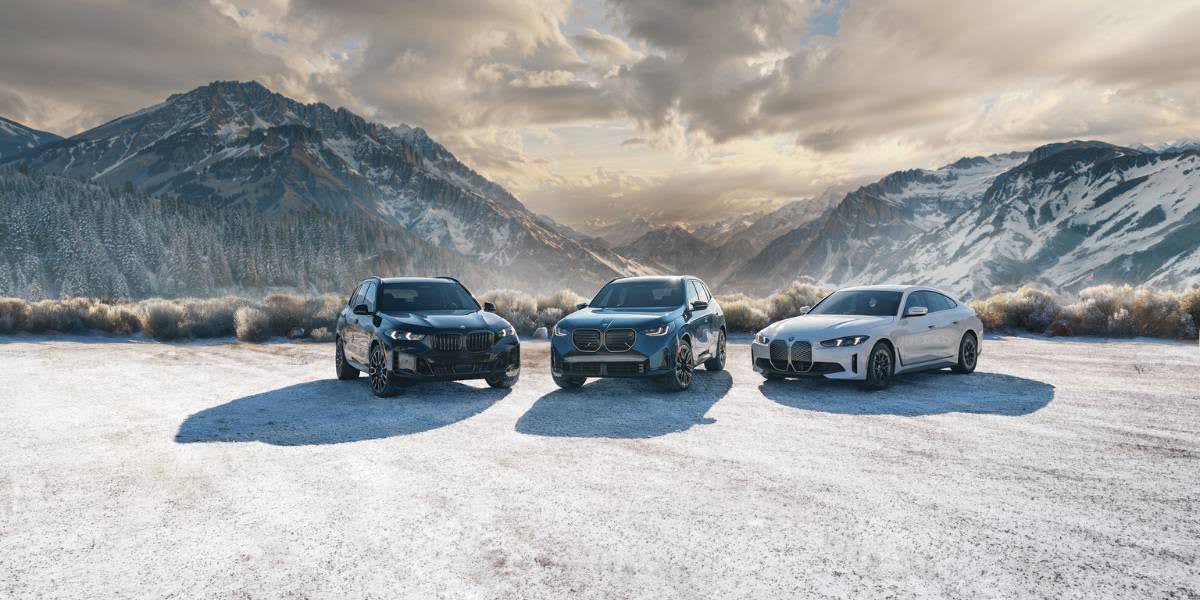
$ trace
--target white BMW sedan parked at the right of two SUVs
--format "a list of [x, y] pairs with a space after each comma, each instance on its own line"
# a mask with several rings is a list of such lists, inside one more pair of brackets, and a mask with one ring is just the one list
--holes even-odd
[[755, 335], [754, 370], [767, 379], [824, 377], [883, 389], [898, 373], [971, 373], [979, 360], [983, 322], [938, 289], [845, 288], [800, 313]]

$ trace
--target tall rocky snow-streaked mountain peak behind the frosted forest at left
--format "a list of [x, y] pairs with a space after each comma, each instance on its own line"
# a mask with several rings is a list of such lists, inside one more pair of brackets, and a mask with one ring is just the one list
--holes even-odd
[[644, 271], [527, 210], [424, 130], [304, 104], [254, 82], [170, 96], [19, 161], [205, 206], [365, 212], [530, 289]]

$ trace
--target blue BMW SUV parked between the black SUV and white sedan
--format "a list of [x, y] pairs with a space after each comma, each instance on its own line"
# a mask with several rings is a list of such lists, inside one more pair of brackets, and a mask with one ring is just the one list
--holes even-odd
[[560, 388], [588, 377], [655, 377], [686, 390], [692, 370], [725, 368], [725, 316], [696, 277], [624, 277], [554, 325], [550, 370]]

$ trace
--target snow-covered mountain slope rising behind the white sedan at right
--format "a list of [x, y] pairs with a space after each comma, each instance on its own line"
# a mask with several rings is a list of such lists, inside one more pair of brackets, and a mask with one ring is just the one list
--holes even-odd
[[731, 287], [809, 276], [912, 282], [978, 295], [1042, 283], [1200, 283], [1200, 151], [1102, 142], [893, 173], [768, 244]]

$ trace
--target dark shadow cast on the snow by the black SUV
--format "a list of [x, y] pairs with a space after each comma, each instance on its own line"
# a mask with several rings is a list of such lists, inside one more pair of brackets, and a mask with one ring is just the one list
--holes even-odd
[[436, 430], [482, 413], [506, 389], [427, 383], [377, 398], [365, 378], [319, 379], [246, 396], [188, 416], [175, 442], [341, 444]]

